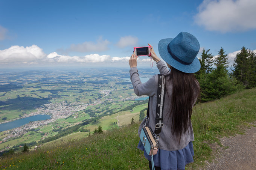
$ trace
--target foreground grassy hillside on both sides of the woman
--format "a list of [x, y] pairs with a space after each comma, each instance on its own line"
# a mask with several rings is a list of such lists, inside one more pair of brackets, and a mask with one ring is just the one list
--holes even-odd
[[[242, 128], [255, 120], [256, 89], [197, 105], [192, 115], [195, 162], [187, 169], [198, 169], [212, 159], [208, 143], [242, 133]], [[2, 169], [148, 169], [143, 153], [136, 149], [138, 126], [134, 123], [89, 138], [51, 143], [34, 152], [2, 158], [0, 165]]]

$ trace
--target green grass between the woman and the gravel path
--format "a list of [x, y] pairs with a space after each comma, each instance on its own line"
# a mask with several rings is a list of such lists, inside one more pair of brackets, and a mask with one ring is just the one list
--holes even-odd
[[256, 121], [256, 89], [198, 104], [191, 119], [195, 135], [195, 163], [189, 168], [195, 169], [213, 158], [209, 143], [221, 145], [220, 137], [243, 134], [244, 127], [250, 127], [248, 123]]

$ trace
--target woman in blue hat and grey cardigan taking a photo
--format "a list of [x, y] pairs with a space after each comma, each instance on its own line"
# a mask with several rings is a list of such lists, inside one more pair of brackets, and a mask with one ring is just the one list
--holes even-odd
[[[150, 44], [148, 44], [150, 45]], [[151, 46], [151, 45], [150, 45]], [[151, 56], [157, 62], [160, 74], [166, 76], [166, 95], [163, 112], [163, 127], [160, 133], [159, 149], [154, 155], [155, 169], [174, 170], [185, 169], [185, 165], [193, 162], [194, 133], [191, 124], [192, 107], [200, 93], [198, 81], [194, 72], [200, 69], [200, 62], [196, 57], [200, 45], [197, 39], [187, 32], [181, 32], [174, 39], [162, 39], [158, 43], [158, 52], [165, 63], [161, 61], [151, 46]], [[158, 76], [154, 75], [146, 83], [141, 83], [137, 70], [137, 57], [135, 53], [129, 60], [130, 77], [136, 95], [151, 96], [149, 103], [149, 123], [152, 131], [155, 129], [155, 108], [157, 100]], [[139, 127], [139, 135], [145, 119]], [[139, 142], [138, 148], [144, 151]], [[149, 160], [151, 169], [151, 156], [144, 152]]]

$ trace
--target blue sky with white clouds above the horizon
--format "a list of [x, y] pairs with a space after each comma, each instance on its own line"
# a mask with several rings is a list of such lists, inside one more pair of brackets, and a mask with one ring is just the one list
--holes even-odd
[[256, 50], [255, 9], [255, 0], [0, 0], [0, 67], [129, 67], [133, 47], [158, 54], [160, 39], [182, 31], [214, 56], [223, 47], [232, 64], [242, 46]]

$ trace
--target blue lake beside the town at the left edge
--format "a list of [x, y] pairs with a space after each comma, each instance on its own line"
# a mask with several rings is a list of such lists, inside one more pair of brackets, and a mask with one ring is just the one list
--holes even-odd
[[23, 125], [26, 125], [29, 122], [34, 122], [34, 121], [38, 121], [38, 120], [47, 120], [50, 119], [51, 116], [48, 114], [37, 114], [34, 116], [29, 116], [29, 117], [25, 117], [22, 119], [17, 119], [14, 120], [12, 122], [8, 122], [8, 123], [1, 123], [0, 124], [0, 131], [6, 131], [8, 129], [13, 129], [13, 128], [17, 128]]

